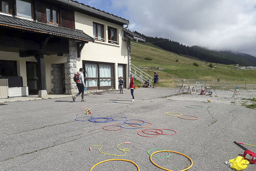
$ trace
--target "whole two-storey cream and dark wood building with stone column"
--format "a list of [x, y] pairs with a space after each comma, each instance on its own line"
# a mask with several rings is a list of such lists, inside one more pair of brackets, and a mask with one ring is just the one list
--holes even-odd
[[0, 75], [39, 96], [77, 93], [79, 68], [88, 90], [128, 87], [130, 42], [145, 42], [128, 24], [72, 0], [0, 0]]

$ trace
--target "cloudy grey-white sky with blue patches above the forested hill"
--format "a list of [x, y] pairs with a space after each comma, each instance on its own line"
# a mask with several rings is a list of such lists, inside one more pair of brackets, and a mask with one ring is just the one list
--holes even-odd
[[129, 20], [144, 35], [256, 56], [256, 0], [78, 1]]

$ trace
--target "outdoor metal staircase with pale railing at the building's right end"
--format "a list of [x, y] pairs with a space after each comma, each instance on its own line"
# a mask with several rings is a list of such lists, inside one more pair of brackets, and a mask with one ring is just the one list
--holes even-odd
[[152, 85], [152, 77], [145, 73], [143, 70], [139, 69], [135, 65], [131, 63], [131, 74], [133, 78], [139, 80], [141, 83], [145, 83], [145, 81], [149, 82], [149, 87]]

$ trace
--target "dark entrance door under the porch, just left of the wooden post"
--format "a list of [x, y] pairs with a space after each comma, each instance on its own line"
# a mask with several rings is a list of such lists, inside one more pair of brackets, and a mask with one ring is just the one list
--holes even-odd
[[28, 93], [38, 94], [39, 82], [36, 70], [36, 62], [26, 62]]

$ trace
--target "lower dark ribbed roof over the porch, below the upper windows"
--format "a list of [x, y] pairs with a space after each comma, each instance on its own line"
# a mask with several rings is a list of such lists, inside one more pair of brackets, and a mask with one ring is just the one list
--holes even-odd
[[45, 23], [38, 23], [36, 21], [20, 19], [7, 15], [0, 15], [0, 26], [29, 30], [33, 32], [56, 35], [60, 37], [72, 38], [82, 41], [94, 41], [92, 37], [85, 34], [82, 30], [64, 28]]

